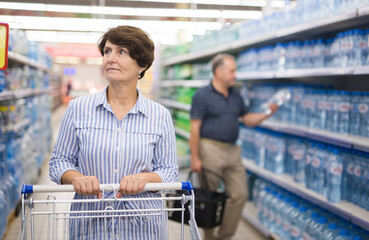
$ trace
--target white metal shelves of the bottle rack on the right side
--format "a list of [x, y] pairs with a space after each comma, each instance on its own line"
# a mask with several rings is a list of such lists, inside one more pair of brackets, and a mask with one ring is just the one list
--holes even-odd
[[[184, 55], [170, 57], [162, 62], [163, 67], [169, 67], [175, 64], [184, 64], [191, 62], [200, 62], [210, 60], [211, 57], [220, 52], [236, 54], [240, 51], [260, 47], [277, 42], [286, 42], [298, 40], [301, 38], [311, 39], [322, 35], [332, 34], [357, 26], [363, 26], [369, 23], [369, 6], [342, 13], [336, 16], [319, 19], [286, 29], [277, 30], [264, 35], [251, 37], [248, 39], [240, 39], [234, 42], [218, 45], [216, 48], [204, 49], [199, 52], [190, 52]], [[318, 68], [318, 69], [289, 69], [285, 71], [267, 71], [267, 72], [239, 72], [237, 80], [273, 80], [286, 78], [314, 78], [314, 77], [331, 77], [331, 76], [358, 76], [369, 75], [369, 66], [348, 67], [348, 68]], [[165, 80], [162, 81], [161, 87], [188, 86], [191, 80]], [[193, 86], [195, 87], [195, 85]], [[201, 87], [201, 86], [197, 86]], [[178, 103], [173, 100], [160, 99], [162, 104], [181, 109], [189, 110], [190, 105]], [[369, 139], [331, 133], [322, 130], [310, 129], [303, 126], [281, 123], [276, 121], [264, 121], [261, 127], [274, 131], [292, 134], [300, 137], [310, 138], [342, 147], [354, 148], [362, 151], [369, 151]], [[185, 137], [189, 137], [189, 133], [181, 129], [175, 129], [176, 133]], [[252, 161], [243, 160], [245, 168], [254, 174], [304, 198], [307, 199], [345, 219], [351, 220], [353, 223], [369, 230], [369, 211], [362, 209], [352, 203], [342, 201], [334, 204], [328, 202], [323, 196], [306, 189], [302, 184], [297, 184], [288, 175], [276, 175], [265, 169], [256, 166]], [[248, 205], [247, 203], [246, 205]], [[252, 208], [252, 204], [251, 205]], [[254, 214], [255, 215], [255, 214]], [[271, 233], [257, 220], [256, 215], [243, 213], [243, 217], [253, 224], [259, 231], [269, 237]], [[272, 236], [275, 237], [275, 236]]]

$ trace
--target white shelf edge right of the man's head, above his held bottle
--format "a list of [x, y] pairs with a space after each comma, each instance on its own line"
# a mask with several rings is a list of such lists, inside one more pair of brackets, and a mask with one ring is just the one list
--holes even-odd
[[237, 73], [237, 80], [325, 77], [325, 76], [367, 75], [367, 74], [369, 74], [369, 65], [347, 68], [309, 68], [309, 69], [289, 69], [285, 71], [239, 72]]

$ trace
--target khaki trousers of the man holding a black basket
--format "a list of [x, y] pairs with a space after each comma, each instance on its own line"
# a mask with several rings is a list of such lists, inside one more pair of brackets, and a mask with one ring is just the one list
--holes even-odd
[[[217, 236], [213, 236], [214, 229], [209, 229], [205, 230], [205, 239], [231, 239], [237, 230], [248, 196], [246, 171], [241, 162], [241, 149], [235, 144], [201, 138], [199, 157], [204, 168], [223, 177], [226, 192], [230, 196]], [[219, 187], [219, 178], [206, 171], [203, 174], [208, 181], [209, 189], [216, 191]]]

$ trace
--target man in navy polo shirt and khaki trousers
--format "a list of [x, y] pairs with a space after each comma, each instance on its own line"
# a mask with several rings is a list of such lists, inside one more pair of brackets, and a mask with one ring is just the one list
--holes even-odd
[[[201, 173], [202, 168], [222, 176], [230, 196], [217, 236], [214, 229], [205, 230], [205, 239], [231, 239], [241, 219], [247, 199], [245, 168], [241, 162], [238, 138], [239, 118], [253, 127], [271, 116], [278, 108], [270, 105], [265, 113], [249, 113], [239, 92], [233, 88], [237, 65], [234, 57], [219, 54], [212, 60], [214, 78], [210, 85], [200, 88], [191, 106], [191, 170]], [[216, 191], [219, 179], [205, 174], [210, 190]]]

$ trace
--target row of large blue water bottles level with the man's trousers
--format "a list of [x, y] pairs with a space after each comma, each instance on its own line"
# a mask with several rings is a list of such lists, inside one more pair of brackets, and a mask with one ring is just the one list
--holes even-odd
[[241, 126], [242, 157], [297, 183], [330, 202], [350, 201], [369, 210], [369, 153]]

